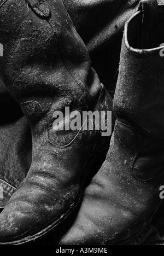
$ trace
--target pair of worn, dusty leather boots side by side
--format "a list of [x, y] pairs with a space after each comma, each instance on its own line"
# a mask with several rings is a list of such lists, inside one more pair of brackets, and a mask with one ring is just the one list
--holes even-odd
[[1, 72], [31, 126], [33, 147], [30, 170], [0, 215], [0, 244], [20, 245], [50, 232], [56, 237], [100, 165], [59, 243], [143, 242], [161, 206], [164, 181], [162, 3], [142, 1], [125, 25], [113, 104], [117, 119], [103, 164], [110, 136], [83, 131], [83, 124], [79, 131], [52, 129], [53, 113], [66, 106], [75, 113], [112, 110], [62, 1], [8, 0], [0, 7]]

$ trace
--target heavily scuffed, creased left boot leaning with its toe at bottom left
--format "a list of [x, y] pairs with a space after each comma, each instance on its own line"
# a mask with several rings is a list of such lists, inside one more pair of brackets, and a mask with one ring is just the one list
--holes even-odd
[[[105, 111], [106, 121], [112, 100], [61, 0], [1, 0], [0, 8], [3, 81], [32, 130], [32, 165], [0, 216], [0, 244], [17, 245], [57, 230], [109, 147], [96, 122], [93, 131], [84, 122], [80, 130], [54, 129], [54, 112]], [[66, 125], [74, 117], [65, 116]]]

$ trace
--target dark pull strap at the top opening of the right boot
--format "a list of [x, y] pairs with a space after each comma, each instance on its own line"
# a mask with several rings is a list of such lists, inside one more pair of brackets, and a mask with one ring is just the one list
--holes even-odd
[[156, 42], [156, 26], [158, 20], [158, 4], [156, 0], [143, 0], [139, 4], [142, 11], [140, 48], [154, 48]]

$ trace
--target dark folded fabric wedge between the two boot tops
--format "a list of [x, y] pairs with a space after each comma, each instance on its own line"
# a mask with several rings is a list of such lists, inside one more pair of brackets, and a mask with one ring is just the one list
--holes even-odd
[[135, 13], [139, 0], [63, 0], [89, 50], [93, 67], [114, 95], [125, 22]]

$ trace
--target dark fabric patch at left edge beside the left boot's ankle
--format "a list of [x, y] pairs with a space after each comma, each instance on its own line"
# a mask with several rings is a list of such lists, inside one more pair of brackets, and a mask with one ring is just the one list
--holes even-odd
[[32, 139], [27, 119], [0, 128], [0, 178], [17, 188], [31, 166]]

